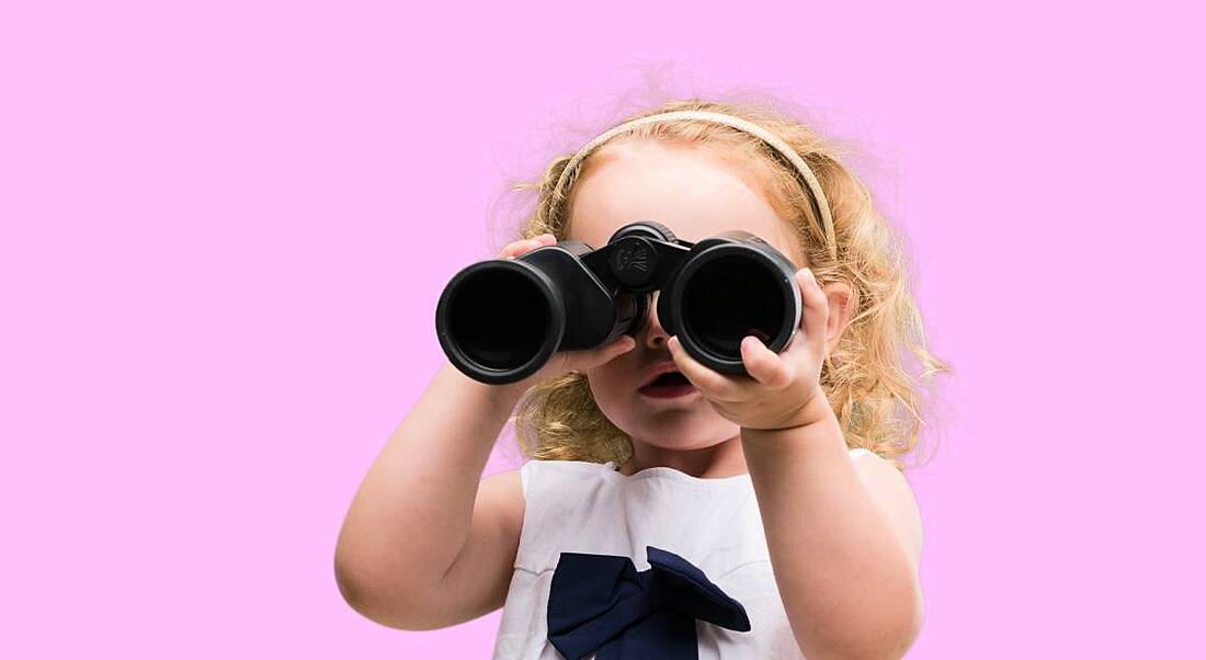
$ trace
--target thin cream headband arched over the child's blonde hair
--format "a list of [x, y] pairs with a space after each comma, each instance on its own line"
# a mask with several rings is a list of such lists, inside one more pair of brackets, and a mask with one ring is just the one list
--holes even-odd
[[569, 159], [569, 163], [566, 165], [566, 168], [561, 170], [561, 176], [557, 179], [557, 187], [552, 189], [554, 204], [560, 201], [561, 188], [569, 181], [569, 177], [573, 176], [574, 171], [581, 164], [582, 159], [590, 156], [590, 153], [596, 148], [598, 148], [601, 145], [603, 145], [604, 142], [607, 142], [608, 140], [615, 138], [621, 133], [626, 133], [628, 130], [632, 130], [633, 128], [637, 128], [638, 125], [651, 124], [657, 122], [673, 122], [677, 119], [696, 119], [701, 122], [712, 122], [736, 128], [737, 130], [749, 133], [750, 135], [754, 135], [755, 138], [762, 140], [767, 145], [772, 146], [780, 154], [783, 154], [784, 158], [790, 160], [791, 164], [795, 165], [796, 171], [800, 173], [801, 177], [804, 181], [804, 185], [808, 187], [808, 191], [812, 193], [813, 208], [816, 211], [816, 215], [820, 216], [821, 223], [825, 226], [825, 238], [829, 241], [830, 256], [833, 257], [833, 261], [837, 261], [837, 241], [833, 238], [833, 218], [830, 217], [829, 200], [825, 199], [825, 192], [821, 191], [820, 182], [816, 181], [816, 176], [813, 174], [813, 170], [808, 167], [808, 164], [804, 163], [804, 159], [801, 158], [798, 153], [796, 153], [796, 150], [791, 148], [791, 145], [783, 141], [769, 130], [757, 125], [754, 122], [742, 119], [739, 117], [733, 117], [732, 115], [725, 115], [721, 112], [712, 112], [707, 110], [675, 110], [672, 112], [661, 112], [658, 115], [650, 115], [648, 117], [638, 117], [636, 119], [632, 119], [631, 122], [622, 123], [603, 133], [598, 138], [595, 138], [593, 140], [587, 142], [586, 146], [578, 150], [578, 153], [575, 153], [574, 157]]

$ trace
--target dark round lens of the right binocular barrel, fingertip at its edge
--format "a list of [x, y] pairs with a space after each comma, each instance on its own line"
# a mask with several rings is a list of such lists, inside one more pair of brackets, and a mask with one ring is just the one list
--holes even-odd
[[753, 334], [769, 341], [786, 316], [772, 271], [755, 259], [712, 259], [683, 290], [683, 332], [713, 355], [740, 360], [742, 339]]

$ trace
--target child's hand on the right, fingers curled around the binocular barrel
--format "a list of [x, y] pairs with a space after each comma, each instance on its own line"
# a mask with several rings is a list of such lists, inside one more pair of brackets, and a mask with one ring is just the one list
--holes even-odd
[[[718, 373], [691, 357], [678, 337], [669, 340], [671, 356], [683, 375], [695, 385], [720, 415], [745, 428], [791, 428], [816, 421], [821, 363], [825, 360], [825, 326], [829, 300], [812, 270], [796, 271], [803, 313], [800, 329], [781, 354], [756, 337], [742, 340], [742, 362], [749, 375]], [[806, 332], [807, 331], [807, 332]], [[803, 337], [801, 337], [803, 335]]]

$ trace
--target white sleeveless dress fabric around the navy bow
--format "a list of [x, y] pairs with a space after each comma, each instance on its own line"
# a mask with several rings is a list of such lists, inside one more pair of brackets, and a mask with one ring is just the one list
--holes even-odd
[[[853, 449], [850, 459], [860, 454], [871, 451]], [[646, 571], [646, 545], [697, 566], [749, 615], [748, 632], [696, 621], [699, 660], [803, 658], [771, 571], [749, 474], [699, 479], [652, 467], [625, 475], [615, 463], [586, 461], [529, 461], [520, 474], [523, 530], [494, 660], [562, 660], [546, 638], [561, 553], [626, 556]]]

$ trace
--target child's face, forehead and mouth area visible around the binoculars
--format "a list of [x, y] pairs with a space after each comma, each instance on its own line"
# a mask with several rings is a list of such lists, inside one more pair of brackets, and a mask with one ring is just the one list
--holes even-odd
[[[573, 193], [568, 239], [598, 249], [617, 229], [640, 220], [661, 222], [691, 243], [744, 229], [797, 268], [808, 265], [791, 227], [757, 192], [759, 171], [751, 164], [695, 147], [633, 140], [609, 142], [591, 159]], [[638, 391], [651, 368], [672, 362], [656, 292], [651, 303], [637, 347], [586, 373], [599, 409], [633, 442], [661, 449], [703, 449], [737, 436], [740, 428], [698, 391], [672, 399]]]

